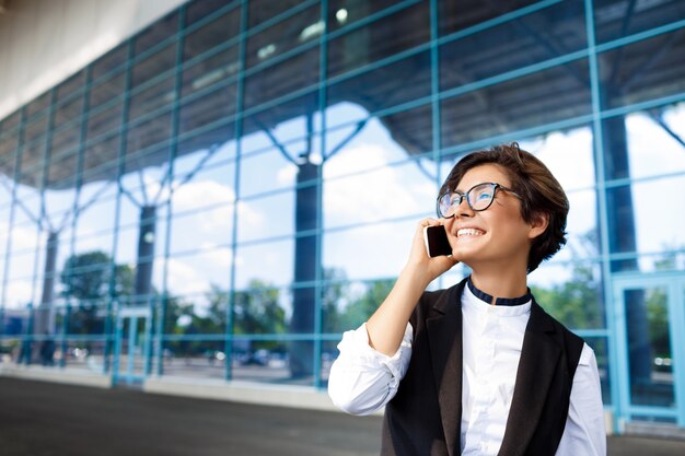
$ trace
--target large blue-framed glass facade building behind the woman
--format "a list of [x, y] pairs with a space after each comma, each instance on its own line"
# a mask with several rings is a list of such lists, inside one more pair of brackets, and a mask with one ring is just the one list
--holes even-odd
[[618, 424], [685, 426], [678, 0], [185, 3], [0, 120], [2, 360], [322, 388], [453, 164], [510, 141], [571, 202], [536, 299]]

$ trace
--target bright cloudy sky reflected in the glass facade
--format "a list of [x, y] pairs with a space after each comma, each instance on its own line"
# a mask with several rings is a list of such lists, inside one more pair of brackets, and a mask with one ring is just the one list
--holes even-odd
[[[664, 120], [685, 138], [685, 104], [669, 108]], [[638, 250], [647, 253], [682, 248], [685, 246], [685, 232], [682, 230], [685, 225], [685, 147], [643, 113], [629, 115], [626, 122], [632, 176], [648, 178], [681, 174], [634, 185]], [[302, 128], [298, 119], [287, 124], [274, 131], [279, 140], [293, 138], [293, 131]], [[332, 133], [329, 148], [334, 148], [346, 135], [345, 129]], [[257, 136], [253, 135], [254, 138], [248, 139], [245, 151], [268, 144], [265, 135]], [[558, 254], [558, 259], [570, 259], [574, 252], [582, 255], [584, 248], [579, 243], [579, 236], [596, 224], [592, 189], [592, 140], [591, 130], [585, 127], [521, 141], [523, 149], [533, 152], [547, 164], [567, 190], [571, 202], [569, 244]], [[297, 141], [288, 145], [293, 155], [302, 148], [303, 144]], [[166, 265], [162, 259], [154, 265], [153, 281], [158, 289], [166, 284], [172, 294], [200, 296], [209, 290], [210, 284], [229, 287], [233, 260], [230, 245], [234, 211], [232, 201], [235, 199], [234, 153], [233, 144], [225, 144], [207, 161], [207, 169], [198, 172], [184, 184], [179, 183], [205, 153], [178, 160], [175, 164], [176, 179], [172, 184], [173, 194], [170, 194], [167, 187], [159, 191], [164, 168], [150, 168], [142, 177], [133, 174], [124, 178], [125, 188], [133, 188], [142, 179], [148, 198], [159, 192], [159, 200], [165, 201], [172, 195], [172, 211], [175, 214], [170, 238], [172, 257]], [[245, 287], [249, 280], [258, 278], [277, 287], [287, 287], [293, 277], [294, 242], [291, 235], [294, 231], [295, 198], [294, 191], [288, 188], [295, 184], [297, 166], [275, 149], [247, 154], [249, 157], [243, 161], [240, 174], [242, 199], [236, 206], [239, 242], [244, 243], [235, 255], [236, 285]], [[417, 221], [434, 212], [438, 188], [436, 165], [428, 160], [422, 160], [421, 165], [422, 168], [414, 161], [406, 161], [406, 153], [374, 118], [345, 149], [326, 161], [323, 222], [324, 227], [330, 231], [323, 241], [325, 268], [341, 269], [350, 280], [397, 276], [408, 255]], [[441, 175], [444, 176], [452, 165], [442, 164]], [[89, 184], [83, 189], [81, 201], [90, 200], [103, 188], [100, 199], [79, 218], [77, 244], [72, 247], [69, 241], [61, 242], [58, 268], [61, 268], [72, 248], [78, 253], [92, 249], [112, 252], [115, 186]], [[53, 194], [49, 201], [54, 201], [54, 204], [68, 208], [73, 203], [73, 195], [68, 191]], [[120, 225], [124, 227], [117, 241], [116, 261], [135, 266], [139, 206], [143, 196], [140, 191], [132, 191], [132, 195], [136, 202], [128, 198], [121, 200]], [[165, 204], [158, 210], [161, 219], [156, 226], [155, 249], [160, 255], [166, 242], [166, 211]], [[12, 233], [13, 255], [4, 294], [8, 307], [23, 306], [32, 299], [39, 300], [38, 290], [42, 285], [40, 277], [39, 280], [32, 279], [38, 239], [35, 224], [22, 211], [18, 211], [15, 217], [19, 226]], [[394, 221], [384, 221], [388, 219]], [[0, 211], [0, 252], [3, 257], [8, 221], [9, 209]], [[62, 239], [71, 237], [70, 223], [67, 223], [61, 234]], [[44, 237], [39, 241], [38, 249], [37, 271], [40, 276]], [[260, 244], [259, 239], [270, 241]], [[4, 261], [1, 261], [0, 272], [3, 272], [4, 266]], [[649, 261], [643, 261], [641, 266], [649, 268]], [[164, 270], [167, 271], [166, 283], [163, 281]], [[533, 272], [531, 282], [550, 285], [568, 279], [568, 274], [567, 268], [542, 268]], [[456, 276], [457, 271], [446, 281], [455, 280]]]

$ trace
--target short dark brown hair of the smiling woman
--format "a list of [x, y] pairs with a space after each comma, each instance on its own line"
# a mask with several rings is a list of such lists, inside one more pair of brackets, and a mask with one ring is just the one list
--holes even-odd
[[469, 169], [486, 164], [499, 165], [504, 169], [511, 180], [510, 188], [521, 197], [521, 217], [525, 222], [530, 223], [541, 214], [549, 218], [545, 232], [531, 245], [527, 271], [532, 272], [566, 244], [566, 219], [569, 211], [566, 192], [539, 159], [512, 142], [464, 156], [442, 184], [440, 195], [454, 191]]

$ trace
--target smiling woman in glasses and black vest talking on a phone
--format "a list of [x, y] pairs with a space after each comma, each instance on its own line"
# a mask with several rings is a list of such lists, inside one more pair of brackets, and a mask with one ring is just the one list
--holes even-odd
[[[382, 455], [604, 455], [592, 349], [547, 315], [527, 273], [566, 243], [568, 199], [519, 145], [472, 153], [417, 226], [409, 259], [369, 320], [344, 335], [328, 393], [367, 414], [385, 407]], [[451, 256], [429, 257], [443, 225]], [[457, 262], [468, 278], [428, 284]]]

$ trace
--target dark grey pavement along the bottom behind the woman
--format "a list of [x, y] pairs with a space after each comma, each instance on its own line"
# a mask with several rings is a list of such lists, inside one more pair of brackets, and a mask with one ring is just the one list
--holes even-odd
[[[380, 417], [0, 377], [0, 456], [371, 456], [380, 435]], [[609, 436], [608, 454], [685, 441]]]

